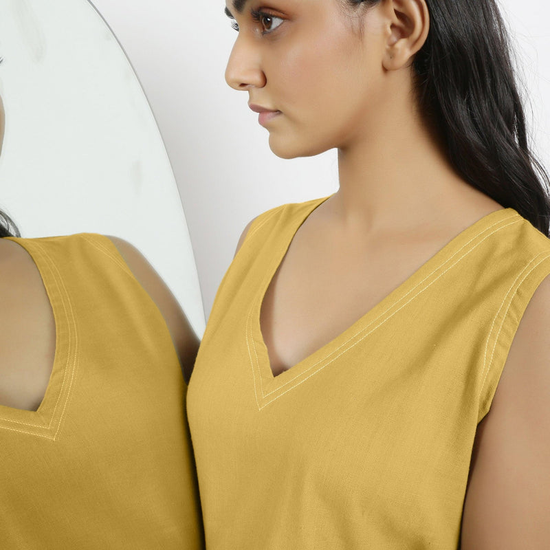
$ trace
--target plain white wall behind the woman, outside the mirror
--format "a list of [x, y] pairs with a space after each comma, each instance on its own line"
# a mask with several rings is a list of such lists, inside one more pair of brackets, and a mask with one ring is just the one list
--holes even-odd
[[[129, 54], [166, 142], [208, 316], [246, 223], [272, 206], [335, 191], [336, 154], [287, 161], [271, 153], [248, 94], [223, 80], [236, 36], [223, 0], [92, 1]], [[544, 0], [503, 7], [525, 61], [537, 148], [550, 167], [550, 8]]]

